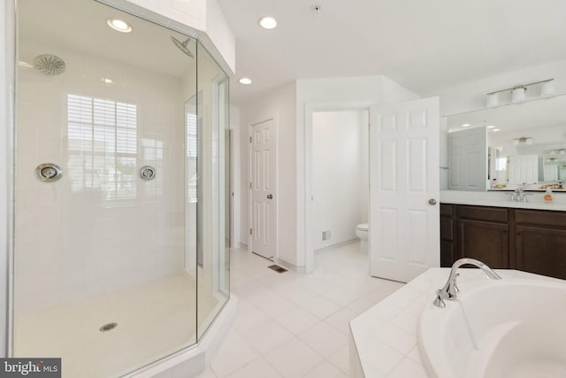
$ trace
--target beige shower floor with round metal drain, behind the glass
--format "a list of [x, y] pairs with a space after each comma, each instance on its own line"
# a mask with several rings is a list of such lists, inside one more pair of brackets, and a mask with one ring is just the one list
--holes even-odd
[[[195, 295], [179, 275], [17, 314], [15, 356], [62, 357], [64, 378], [126, 374], [195, 342]], [[218, 301], [199, 305], [209, 313]], [[118, 327], [99, 330], [110, 322]]]

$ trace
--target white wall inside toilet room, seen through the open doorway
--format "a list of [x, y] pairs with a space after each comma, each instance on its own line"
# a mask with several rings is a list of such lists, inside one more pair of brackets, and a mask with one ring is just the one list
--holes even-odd
[[[312, 120], [312, 246], [356, 238], [368, 216], [367, 111], [315, 112]], [[322, 232], [332, 237], [322, 240]]]

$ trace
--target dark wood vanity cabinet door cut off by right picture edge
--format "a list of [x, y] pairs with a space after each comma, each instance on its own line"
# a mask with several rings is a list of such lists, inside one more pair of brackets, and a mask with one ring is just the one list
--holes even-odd
[[517, 226], [516, 268], [566, 279], [566, 230]]

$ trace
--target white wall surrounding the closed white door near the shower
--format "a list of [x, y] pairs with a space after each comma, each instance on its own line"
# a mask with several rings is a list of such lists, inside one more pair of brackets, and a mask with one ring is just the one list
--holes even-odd
[[249, 238], [249, 125], [275, 119], [277, 137], [278, 258], [296, 261], [295, 114], [296, 85], [290, 82], [240, 109], [241, 120], [241, 243]]

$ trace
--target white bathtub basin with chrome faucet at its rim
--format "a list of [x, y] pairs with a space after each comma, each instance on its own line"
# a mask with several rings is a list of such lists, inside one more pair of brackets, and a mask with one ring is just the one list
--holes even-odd
[[566, 377], [566, 282], [504, 278], [459, 285], [424, 305], [417, 343], [438, 378]]

